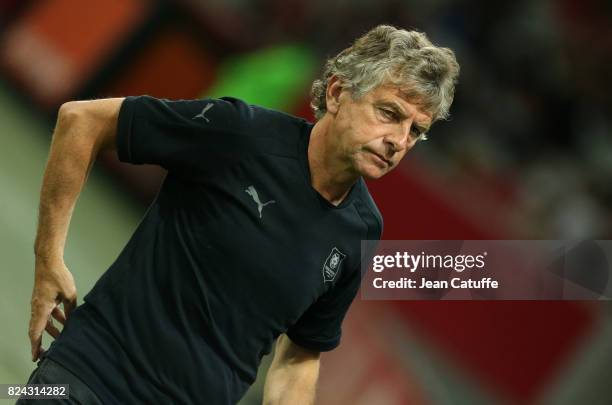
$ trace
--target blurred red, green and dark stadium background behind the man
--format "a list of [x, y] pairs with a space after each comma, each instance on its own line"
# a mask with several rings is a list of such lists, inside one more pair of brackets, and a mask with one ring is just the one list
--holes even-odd
[[[326, 57], [379, 23], [415, 28], [462, 74], [452, 121], [370, 184], [384, 238], [610, 239], [611, 16], [595, 0], [1, 1], [0, 383], [34, 367], [32, 246], [62, 102], [232, 95], [312, 119]], [[99, 159], [66, 249], [80, 297], [163, 175]], [[323, 359], [322, 405], [612, 403], [603, 302], [357, 300], [344, 333]], [[263, 371], [243, 405], [260, 402]]]

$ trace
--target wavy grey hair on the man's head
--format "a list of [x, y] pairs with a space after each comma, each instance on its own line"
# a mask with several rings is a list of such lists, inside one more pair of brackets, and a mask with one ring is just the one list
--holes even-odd
[[448, 118], [459, 64], [452, 50], [433, 45], [422, 32], [379, 25], [325, 63], [323, 77], [311, 90], [317, 119], [327, 111], [325, 93], [332, 75], [353, 99], [380, 85], [397, 86], [437, 121]]

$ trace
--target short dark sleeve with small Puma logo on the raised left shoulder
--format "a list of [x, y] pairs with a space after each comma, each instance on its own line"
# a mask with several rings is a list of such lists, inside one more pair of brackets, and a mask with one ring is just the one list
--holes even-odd
[[168, 170], [218, 166], [248, 148], [244, 128], [250, 115], [248, 104], [229, 97], [126, 97], [117, 123], [119, 160]]

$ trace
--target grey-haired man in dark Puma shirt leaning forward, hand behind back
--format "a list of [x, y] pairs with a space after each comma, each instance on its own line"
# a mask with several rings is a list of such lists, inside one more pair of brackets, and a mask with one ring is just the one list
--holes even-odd
[[[458, 70], [424, 34], [379, 26], [327, 62], [315, 125], [233, 98], [64, 104], [41, 192], [32, 359], [43, 329], [56, 340], [29, 382], [69, 381], [84, 403], [233, 404], [276, 340], [264, 403], [313, 403], [320, 352], [339, 344], [359, 287], [360, 241], [382, 233], [363, 178], [447, 117]], [[75, 309], [64, 243], [104, 149], [168, 175]]]

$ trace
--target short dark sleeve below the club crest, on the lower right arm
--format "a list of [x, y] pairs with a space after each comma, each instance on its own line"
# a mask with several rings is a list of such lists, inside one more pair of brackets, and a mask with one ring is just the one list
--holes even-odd
[[294, 343], [321, 352], [340, 344], [342, 321], [361, 284], [361, 272], [354, 270], [319, 297], [287, 330], [287, 336]]

